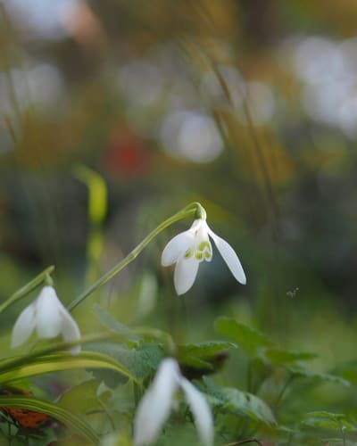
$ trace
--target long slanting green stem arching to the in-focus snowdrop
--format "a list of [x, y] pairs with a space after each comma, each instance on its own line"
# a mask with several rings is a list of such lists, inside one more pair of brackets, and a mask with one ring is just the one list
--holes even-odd
[[89, 296], [91, 293], [94, 293], [97, 288], [106, 284], [109, 280], [111, 280], [112, 277], [116, 276], [121, 271], [121, 269], [129, 265], [131, 261], [135, 260], [139, 253], [144, 250], [145, 246], [149, 244], [156, 235], [160, 234], [163, 229], [169, 227], [170, 225], [172, 225], [172, 223], [175, 223], [180, 219], [185, 219], [190, 215], [195, 215], [196, 218], [201, 219], [205, 216], [205, 213], [206, 212], [204, 211], [203, 206], [199, 202], [192, 202], [191, 204], [188, 204], [186, 208], [172, 215], [169, 219], [162, 221], [162, 223], [158, 227], [156, 227], [154, 231], [145, 236], [145, 239], [140, 244], [138, 244], [132, 252], [129, 252], [127, 257], [125, 257], [114, 267], [112, 267], [112, 269], [105, 273], [104, 276], [96, 280], [93, 285], [90, 285], [89, 288], [87, 288], [87, 290], [79, 294], [79, 296], [74, 299], [74, 301], [71, 301], [71, 303], [67, 306], [68, 310], [74, 310], [81, 301], [84, 301], [87, 298], [87, 296]]

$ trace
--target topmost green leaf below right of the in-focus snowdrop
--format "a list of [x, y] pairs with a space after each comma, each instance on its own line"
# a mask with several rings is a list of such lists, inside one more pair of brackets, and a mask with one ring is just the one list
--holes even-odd
[[232, 318], [218, 318], [215, 322], [215, 328], [220, 335], [233, 339], [245, 353], [254, 357], [259, 354], [263, 347], [270, 347], [273, 343], [261, 332], [245, 326]]

